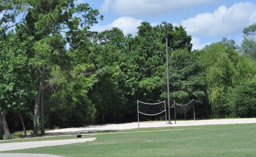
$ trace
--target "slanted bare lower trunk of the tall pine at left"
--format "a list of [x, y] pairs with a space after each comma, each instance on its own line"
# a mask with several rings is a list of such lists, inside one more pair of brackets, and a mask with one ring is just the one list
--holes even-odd
[[41, 96], [41, 91], [43, 89], [45, 70], [46, 70], [46, 65], [43, 65], [40, 68], [40, 71], [41, 71], [40, 84], [38, 87], [37, 98], [35, 100], [35, 112], [34, 112], [34, 123], [33, 123], [33, 136], [34, 137], [38, 136], [38, 126], [37, 125], [38, 125], [39, 100], [40, 100], [40, 96]]

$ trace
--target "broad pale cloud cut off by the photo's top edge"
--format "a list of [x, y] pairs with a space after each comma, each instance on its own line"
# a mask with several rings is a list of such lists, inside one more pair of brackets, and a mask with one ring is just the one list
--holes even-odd
[[211, 1], [213, 0], [105, 0], [103, 4], [108, 5], [102, 5], [102, 7], [103, 9], [111, 8], [114, 12], [125, 16], [157, 16], [187, 6], [209, 3]]

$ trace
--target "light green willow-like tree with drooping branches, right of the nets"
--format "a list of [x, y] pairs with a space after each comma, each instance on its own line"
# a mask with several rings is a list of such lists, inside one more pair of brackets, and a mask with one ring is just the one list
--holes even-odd
[[222, 115], [221, 112], [226, 109], [229, 87], [233, 85], [234, 64], [221, 43], [206, 47], [200, 60], [205, 70], [207, 94], [212, 112], [216, 116]]

